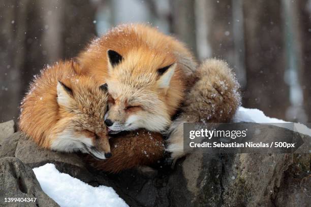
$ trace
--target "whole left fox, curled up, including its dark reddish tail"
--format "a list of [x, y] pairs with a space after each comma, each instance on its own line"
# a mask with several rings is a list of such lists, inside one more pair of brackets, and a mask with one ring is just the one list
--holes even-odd
[[96, 158], [89, 160], [95, 167], [109, 172], [161, 159], [159, 133], [141, 129], [109, 140], [106, 85], [78, 70], [75, 62], [59, 62], [34, 80], [21, 103], [20, 130], [45, 149], [87, 153]]

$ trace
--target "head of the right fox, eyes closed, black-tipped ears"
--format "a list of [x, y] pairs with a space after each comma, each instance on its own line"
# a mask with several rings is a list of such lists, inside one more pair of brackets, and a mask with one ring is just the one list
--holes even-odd
[[148, 49], [129, 51], [124, 57], [107, 51], [106, 79], [109, 110], [105, 123], [110, 133], [146, 128], [164, 131], [171, 123], [167, 90], [176, 68], [176, 60]]

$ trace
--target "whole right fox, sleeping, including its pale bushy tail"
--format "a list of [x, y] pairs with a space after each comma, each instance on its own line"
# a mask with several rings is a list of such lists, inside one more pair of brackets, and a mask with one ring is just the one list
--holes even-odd
[[[166, 133], [170, 127], [168, 151], [173, 159], [186, 153], [182, 124], [192, 122], [187, 117], [204, 114], [204, 120], [227, 122], [240, 104], [239, 84], [227, 64], [207, 61], [196, 72], [196, 60], [182, 43], [146, 25], [113, 28], [93, 41], [78, 61], [82, 74], [107, 83], [105, 123], [110, 133], [138, 128]], [[172, 124], [184, 101], [188, 108], [183, 107], [185, 113]]]

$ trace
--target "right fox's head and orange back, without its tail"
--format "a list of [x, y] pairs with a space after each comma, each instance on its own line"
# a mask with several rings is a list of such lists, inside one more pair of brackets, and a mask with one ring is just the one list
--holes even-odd
[[105, 123], [111, 132], [164, 131], [184, 99], [185, 77], [196, 68], [180, 42], [140, 24], [113, 28], [78, 61], [81, 74], [107, 83]]

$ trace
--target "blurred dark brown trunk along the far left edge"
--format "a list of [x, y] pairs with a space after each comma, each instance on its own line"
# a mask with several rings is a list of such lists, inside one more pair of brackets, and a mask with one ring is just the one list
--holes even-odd
[[18, 115], [28, 4], [28, 0], [0, 1], [0, 122]]

